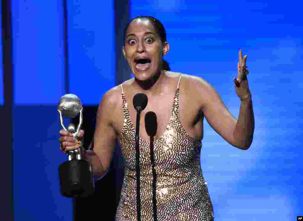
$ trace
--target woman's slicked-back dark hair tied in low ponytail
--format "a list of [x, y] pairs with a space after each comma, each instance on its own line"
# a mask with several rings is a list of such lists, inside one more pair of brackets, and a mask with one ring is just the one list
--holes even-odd
[[[126, 25], [126, 27], [124, 29], [124, 35], [123, 35], [124, 44], [125, 44], [126, 30], [128, 29], [130, 23], [132, 23], [132, 21], [134, 21], [136, 19], [147, 19], [150, 22], [152, 22], [153, 25], [154, 25], [154, 27], [155, 27], [155, 29], [156, 29], [157, 34], [160, 36], [160, 39], [161, 39], [162, 43], [164, 44], [166, 42], [166, 31], [165, 31], [165, 28], [164, 28], [163, 24], [158, 19], [156, 19], [156, 18], [154, 18], [152, 16], [145, 16], [145, 15], [142, 16], [142, 15], [140, 15], [140, 16], [137, 16], [137, 17], [131, 19], [127, 23], [127, 25]], [[163, 62], [162, 62], [162, 69], [169, 71], [170, 67], [169, 67], [168, 62], [165, 61], [164, 59], [162, 59], [162, 60], [163, 60]]]

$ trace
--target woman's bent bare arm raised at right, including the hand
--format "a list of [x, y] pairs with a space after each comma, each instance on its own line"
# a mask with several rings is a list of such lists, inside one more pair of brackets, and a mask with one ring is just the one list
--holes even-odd
[[211, 127], [231, 145], [247, 150], [252, 143], [255, 120], [247, 77], [243, 75], [244, 61], [246, 57], [242, 60], [242, 68], [241, 63], [238, 64], [238, 79], [234, 79], [236, 93], [241, 99], [238, 119], [232, 116], [215, 89], [202, 79], [199, 90], [200, 94], [206, 95], [201, 101], [201, 109]]

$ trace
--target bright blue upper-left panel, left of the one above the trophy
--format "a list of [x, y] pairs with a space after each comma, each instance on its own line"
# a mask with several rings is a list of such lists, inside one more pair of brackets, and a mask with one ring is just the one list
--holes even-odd
[[16, 105], [57, 104], [65, 94], [61, 1], [12, 0]]

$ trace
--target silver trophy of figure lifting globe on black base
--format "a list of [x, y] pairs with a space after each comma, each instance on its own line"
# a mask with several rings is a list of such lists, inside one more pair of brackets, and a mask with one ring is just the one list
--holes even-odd
[[[62, 129], [69, 131], [73, 134], [74, 138], [80, 140], [77, 136], [83, 122], [83, 107], [80, 99], [75, 94], [65, 94], [59, 101], [58, 112]], [[67, 128], [64, 126], [63, 116], [74, 118], [79, 114], [77, 128], [74, 124], [69, 124]], [[82, 159], [84, 151], [82, 142], [80, 148], [67, 152], [68, 161], [59, 166], [59, 182], [62, 196], [68, 198], [82, 197], [91, 195], [94, 192], [95, 187], [91, 165], [88, 161]]]

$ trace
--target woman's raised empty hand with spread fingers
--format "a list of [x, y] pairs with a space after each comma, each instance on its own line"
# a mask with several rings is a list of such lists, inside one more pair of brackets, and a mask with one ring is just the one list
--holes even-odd
[[248, 55], [245, 55], [242, 57], [242, 51], [240, 49], [239, 51], [239, 62], [237, 65], [238, 69], [238, 77], [234, 77], [234, 83], [235, 83], [235, 89], [238, 97], [241, 100], [247, 100], [251, 97], [251, 92], [248, 88], [248, 81], [247, 81], [247, 75], [248, 75], [248, 70], [246, 70], [246, 58]]

